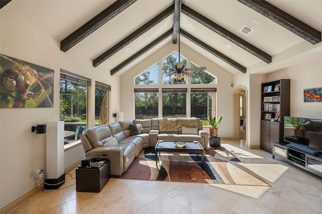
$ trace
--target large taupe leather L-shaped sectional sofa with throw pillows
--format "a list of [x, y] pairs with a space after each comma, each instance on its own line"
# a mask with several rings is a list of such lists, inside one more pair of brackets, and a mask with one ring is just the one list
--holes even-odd
[[[133, 134], [135, 126], [141, 128], [139, 134]], [[128, 169], [142, 148], [154, 147], [157, 140], [197, 140], [205, 149], [208, 145], [202, 122], [194, 117], [119, 121], [87, 129], [80, 138], [86, 157], [109, 158], [111, 175], [116, 176]]]

